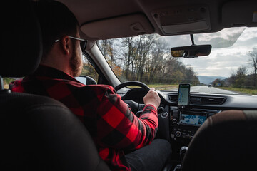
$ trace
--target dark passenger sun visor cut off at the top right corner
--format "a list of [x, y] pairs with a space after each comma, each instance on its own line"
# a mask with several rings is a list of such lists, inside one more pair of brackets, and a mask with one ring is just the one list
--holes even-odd
[[231, 1], [222, 6], [225, 26], [257, 26], [257, 1]]

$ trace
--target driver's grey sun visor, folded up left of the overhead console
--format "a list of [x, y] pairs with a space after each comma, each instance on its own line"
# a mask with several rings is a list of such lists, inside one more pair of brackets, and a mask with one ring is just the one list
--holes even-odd
[[104, 40], [150, 34], [154, 29], [143, 14], [131, 14], [83, 24], [81, 31], [89, 38]]

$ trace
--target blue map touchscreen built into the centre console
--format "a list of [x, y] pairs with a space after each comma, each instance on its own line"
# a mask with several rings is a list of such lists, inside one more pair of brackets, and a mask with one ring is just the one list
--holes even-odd
[[179, 123], [200, 126], [205, 120], [206, 115], [188, 115], [181, 113]]

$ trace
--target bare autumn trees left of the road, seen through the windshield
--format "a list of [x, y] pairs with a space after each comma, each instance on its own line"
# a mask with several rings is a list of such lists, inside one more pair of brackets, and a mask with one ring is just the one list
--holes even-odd
[[158, 35], [101, 40], [98, 45], [121, 81], [199, 83], [193, 68], [171, 57], [170, 47]]

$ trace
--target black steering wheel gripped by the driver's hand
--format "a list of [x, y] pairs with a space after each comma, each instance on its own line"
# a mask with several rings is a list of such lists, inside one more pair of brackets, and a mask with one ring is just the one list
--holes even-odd
[[[114, 89], [116, 91], [120, 90], [121, 88], [124, 88], [126, 86], [138, 86], [143, 88], [144, 90], [146, 90], [147, 92], [150, 90], [150, 88], [145, 84], [145, 83], [141, 83], [139, 81], [126, 81], [124, 83], [119, 84], [118, 86], [116, 86]], [[129, 93], [129, 92], [128, 92]], [[160, 94], [159, 94], [160, 95]], [[160, 96], [161, 97], [161, 96]], [[129, 108], [131, 108], [132, 112], [136, 114], [136, 116], [138, 116], [141, 111], [144, 108], [144, 104], [139, 104], [136, 103], [133, 100], [124, 100], [124, 102], [129, 105]]]

